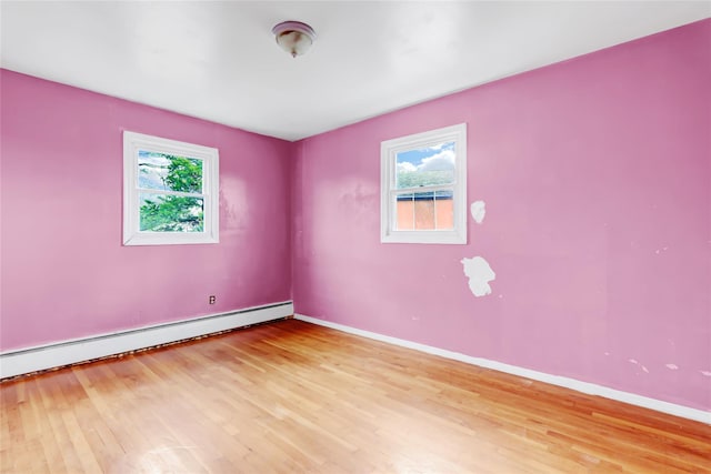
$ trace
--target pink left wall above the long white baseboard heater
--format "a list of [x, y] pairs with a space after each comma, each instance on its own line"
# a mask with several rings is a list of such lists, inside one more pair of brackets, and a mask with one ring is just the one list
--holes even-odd
[[[0, 351], [291, 299], [292, 143], [0, 73]], [[220, 150], [219, 244], [121, 245], [122, 130]]]

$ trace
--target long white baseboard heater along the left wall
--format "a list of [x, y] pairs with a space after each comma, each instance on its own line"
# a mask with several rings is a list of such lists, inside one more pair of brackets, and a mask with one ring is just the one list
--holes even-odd
[[0, 379], [287, 317], [291, 301], [0, 353]]

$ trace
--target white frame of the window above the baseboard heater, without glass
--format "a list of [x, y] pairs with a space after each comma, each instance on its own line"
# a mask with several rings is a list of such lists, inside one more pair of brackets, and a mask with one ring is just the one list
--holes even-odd
[[[140, 230], [140, 190], [138, 184], [139, 150], [202, 160], [203, 231], [202, 232], [144, 232]], [[220, 155], [216, 148], [123, 132], [123, 245], [171, 245], [194, 243], [218, 243], [219, 231], [219, 165]], [[148, 190], [154, 191], [154, 190]]]

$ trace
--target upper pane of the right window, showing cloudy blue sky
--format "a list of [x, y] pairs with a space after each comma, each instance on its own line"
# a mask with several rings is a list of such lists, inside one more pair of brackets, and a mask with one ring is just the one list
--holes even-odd
[[402, 151], [395, 155], [397, 189], [454, 183], [454, 142]]

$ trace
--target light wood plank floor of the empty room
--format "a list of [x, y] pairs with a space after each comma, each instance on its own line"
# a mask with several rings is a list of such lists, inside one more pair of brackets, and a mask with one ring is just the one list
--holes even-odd
[[711, 426], [288, 320], [0, 384], [2, 473], [711, 472]]

